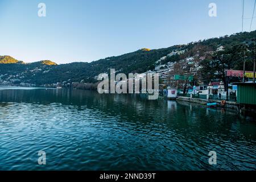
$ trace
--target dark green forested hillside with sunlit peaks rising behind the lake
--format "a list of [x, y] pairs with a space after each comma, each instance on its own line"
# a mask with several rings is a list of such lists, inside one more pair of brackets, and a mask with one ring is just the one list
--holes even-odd
[[[214, 73], [222, 69], [242, 69], [243, 54], [246, 52], [247, 70], [253, 69], [254, 43], [256, 31], [226, 35], [220, 38], [199, 40], [184, 45], [177, 45], [162, 49], [143, 48], [135, 52], [121, 56], [106, 57], [91, 63], [60, 64], [46, 60], [25, 64], [10, 56], [0, 56], [0, 82], [3, 84], [72, 84], [72, 82], [97, 82], [99, 73], [109, 72], [110, 68], [122, 73], [143, 73], [154, 70], [157, 65], [180, 60], [186, 57], [203, 56], [200, 60], [200, 77], [203, 81], [209, 81], [221, 76]], [[216, 51], [220, 46], [225, 49]], [[183, 51], [179, 55], [168, 56], [173, 51]], [[158, 61], [161, 57], [166, 59]], [[218, 60], [218, 61], [214, 61]], [[213, 65], [213, 63], [215, 65]], [[196, 73], [197, 74], [197, 73]], [[198, 76], [199, 77], [199, 76]]]

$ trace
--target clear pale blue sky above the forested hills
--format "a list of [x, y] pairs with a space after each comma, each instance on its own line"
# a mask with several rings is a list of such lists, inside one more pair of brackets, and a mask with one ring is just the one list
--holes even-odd
[[[46, 3], [44, 18], [38, 17], [40, 2]], [[208, 15], [211, 2], [216, 18]], [[0, 0], [0, 55], [26, 62], [93, 61], [229, 35], [241, 31], [241, 5], [241, 0]], [[253, 5], [245, 0], [245, 18]], [[249, 31], [250, 19], [244, 27]]]

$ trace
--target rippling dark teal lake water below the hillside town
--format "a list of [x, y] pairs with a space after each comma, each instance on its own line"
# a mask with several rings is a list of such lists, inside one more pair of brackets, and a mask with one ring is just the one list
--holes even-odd
[[129, 94], [0, 88], [0, 143], [0, 170], [256, 169], [254, 118]]

